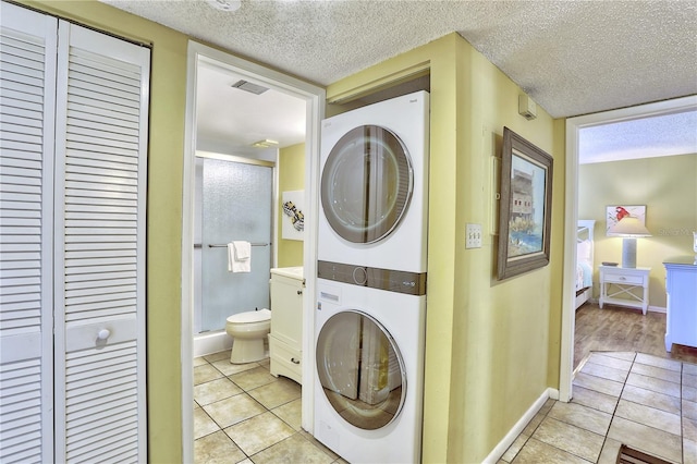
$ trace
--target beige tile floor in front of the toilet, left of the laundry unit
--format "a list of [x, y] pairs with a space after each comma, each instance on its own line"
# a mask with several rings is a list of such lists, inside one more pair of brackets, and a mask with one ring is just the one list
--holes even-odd
[[345, 463], [301, 429], [298, 383], [230, 351], [194, 359], [194, 438], [196, 463]]

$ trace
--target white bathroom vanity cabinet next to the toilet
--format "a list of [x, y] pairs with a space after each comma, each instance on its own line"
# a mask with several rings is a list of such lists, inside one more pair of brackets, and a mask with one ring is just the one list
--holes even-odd
[[270, 373], [303, 383], [303, 268], [271, 269]]

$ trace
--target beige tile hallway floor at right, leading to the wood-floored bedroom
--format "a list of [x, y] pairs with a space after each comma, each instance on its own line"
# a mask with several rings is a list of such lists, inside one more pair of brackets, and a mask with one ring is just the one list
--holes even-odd
[[501, 462], [614, 463], [622, 443], [697, 463], [697, 365], [591, 353], [575, 376], [573, 400], [549, 400]]

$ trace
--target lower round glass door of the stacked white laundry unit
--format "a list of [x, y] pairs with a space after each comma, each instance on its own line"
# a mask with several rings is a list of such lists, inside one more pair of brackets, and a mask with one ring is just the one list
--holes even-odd
[[317, 338], [317, 374], [337, 414], [375, 430], [400, 414], [406, 398], [402, 355], [390, 333], [356, 310], [338, 313]]

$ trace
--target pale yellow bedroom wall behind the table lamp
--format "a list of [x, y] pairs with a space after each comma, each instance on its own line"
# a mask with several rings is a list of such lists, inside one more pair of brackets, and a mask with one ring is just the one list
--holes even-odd
[[622, 239], [606, 235], [606, 207], [646, 205], [652, 236], [637, 239], [636, 264], [650, 267], [649, 305], [665, 308], [663, 260], [693, 254], [697, 230], [697, 155], [614, 161], [578, 167], [578, 217], [595, 219], [595, 288], [598, 266], [622, 262]]

